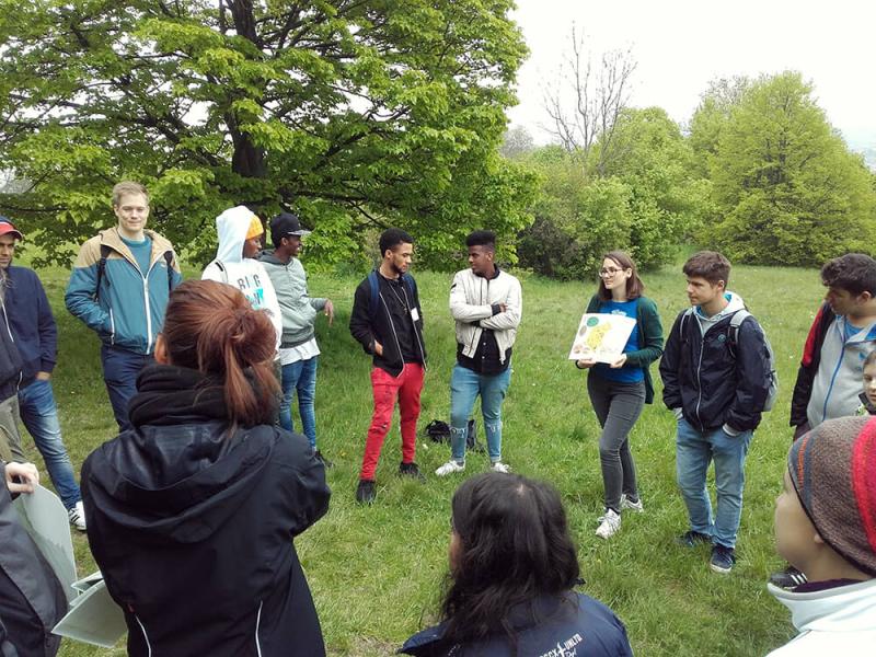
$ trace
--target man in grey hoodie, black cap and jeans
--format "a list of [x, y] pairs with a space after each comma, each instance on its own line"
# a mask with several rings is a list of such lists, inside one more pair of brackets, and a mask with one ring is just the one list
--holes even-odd
[[308, 292], [308, 277], [298, 260], [298, 254], [301, 251], [301, 238], [309, 234], [310, 231], [301, 228], [296, 215], [281, 212], [270, 221], [274, 250], [263, 251], [258, 260], [274, 284], [283, 315], [279, 356], [283, 367], [280, 426], [293, 430], [292, 395], [298, 393], [298, 413], [301, 415], [302, 431], [310, 440], [316, 458], [326, 468], [331, 468], [332, 462], [316, 449], [316, 415], [313, 400], [316, 392], [320, 347], [316, 344], [314, 323], [316, 314], [322, 311], [328, 318], [331, 325], [335, 309], [330, 299], [311, 297]]

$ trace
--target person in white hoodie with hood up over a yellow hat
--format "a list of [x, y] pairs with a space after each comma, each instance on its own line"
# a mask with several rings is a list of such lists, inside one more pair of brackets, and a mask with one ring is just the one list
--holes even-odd
[[262, 220], [246, 206], [238, 206], [216, 218], [216, 230], [219, 233], [216, 260], [205, 267], [201, 280], [235, 286], [255, 310], [266, 311], [274, 323], [279, 349], [283, 337], [280, 304], [264, 265], [255, 260], [262, 250], [265, 232]]

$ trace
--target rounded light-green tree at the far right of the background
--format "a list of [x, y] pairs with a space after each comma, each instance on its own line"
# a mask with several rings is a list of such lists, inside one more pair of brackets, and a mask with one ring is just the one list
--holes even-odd
[[717, 215], [706, 238], [731, 258], [817, 265], [846, 251], [874, 252], [873, 176], [798, 73], [751, 85], [711, 165]]

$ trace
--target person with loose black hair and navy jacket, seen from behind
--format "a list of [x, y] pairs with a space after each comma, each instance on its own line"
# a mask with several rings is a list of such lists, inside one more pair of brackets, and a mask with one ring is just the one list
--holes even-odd
[[465, 480], [451, 503], [441, 623], [405, 642], [416, 657], [632, 656], [626, 630], [573, 590], [578, 557], [560, 494], [517, 474]]

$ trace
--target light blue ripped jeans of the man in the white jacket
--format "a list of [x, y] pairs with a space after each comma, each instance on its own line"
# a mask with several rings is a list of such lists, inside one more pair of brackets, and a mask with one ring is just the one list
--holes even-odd
[[450, 458], [465, 462], [465, 438], [469, 433], [469, 416], [481, 395], [481, 413], [484, 415], [486, 451], [491, 462], [502, 461], [502, 403], [511, 382], [511, 368], [487, 376], [479, 374], [457, 364], [450, 376]]

